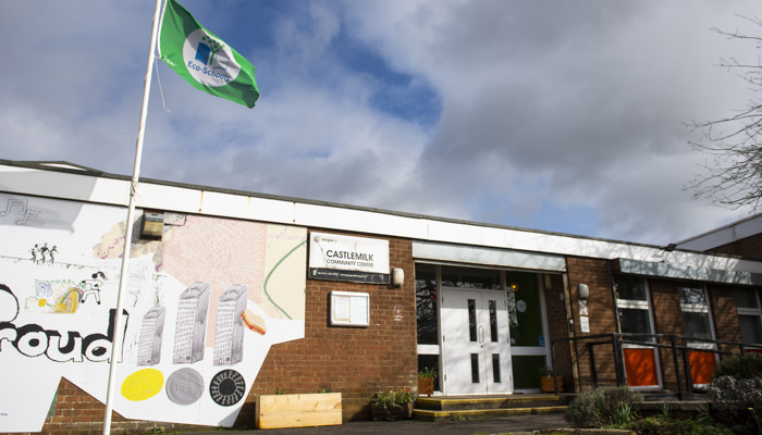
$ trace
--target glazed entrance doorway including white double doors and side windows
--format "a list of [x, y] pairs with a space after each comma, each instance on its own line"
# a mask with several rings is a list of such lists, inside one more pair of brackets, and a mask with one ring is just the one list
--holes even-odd
[[418, 369], [435, 370], [434, 394], [539, 391], [551, 286], [533, 271], [417, 263]]

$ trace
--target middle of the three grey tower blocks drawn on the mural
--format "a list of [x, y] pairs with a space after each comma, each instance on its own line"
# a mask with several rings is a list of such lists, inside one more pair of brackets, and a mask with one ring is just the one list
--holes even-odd
[[180, 295], [172, 363], [193, 363], [204, 359], [208, 309], [208, 283], [193, 283]]

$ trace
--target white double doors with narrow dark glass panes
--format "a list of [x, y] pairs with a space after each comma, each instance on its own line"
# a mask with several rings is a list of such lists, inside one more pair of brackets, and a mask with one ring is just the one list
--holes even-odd
[[504, 291], [442, 289], [446, 395], [513, 391]]

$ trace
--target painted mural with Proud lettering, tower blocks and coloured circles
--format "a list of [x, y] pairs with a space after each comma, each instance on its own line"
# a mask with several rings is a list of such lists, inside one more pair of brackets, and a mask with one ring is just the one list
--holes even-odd
[[[0, 194], [0, 432], [41, 430], [61, 376], [105, 401], [125, 217]], [[270, 347], [304, 337], [306, 229], [165, 213], [160, 240], [134, 233], [114, 411], [232, 425]]]

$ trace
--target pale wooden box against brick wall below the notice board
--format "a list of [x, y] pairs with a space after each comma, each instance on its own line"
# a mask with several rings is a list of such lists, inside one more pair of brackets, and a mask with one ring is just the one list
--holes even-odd
[[342, 424], [341, 393], [275, 395], [257, 398], [257, 427], [304, 427]]

